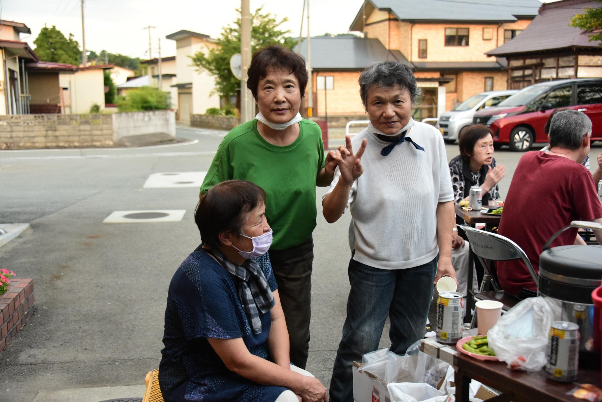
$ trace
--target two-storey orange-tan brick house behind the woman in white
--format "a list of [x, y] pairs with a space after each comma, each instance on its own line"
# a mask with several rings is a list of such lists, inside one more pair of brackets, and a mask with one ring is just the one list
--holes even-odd
[[[485, 53], [520, 34], [538, 14], [540, 5], [539, 0], [367, 0], [349, 29], [363, 32], [365, 39], [376, 39], [385, 49], [385, 54], [380, 50], [369, 52], [366, 60], [382, 61], [392, 57], [414, 70], [424, 94], [415, 118], [423, 119], [436, 117], [476, 93], [505, 90], [505, 61], [492, 60]], [[336, 55], [341, 39], [324, 40], [327, 42], [320, 43], [319, 52]], [[316, 80], [316, 76], [324, 75], [326, 70], [318, 65], [314, 67], [314, 58], [320, 58], [314, 56], [317, 41], [320, 42], [320, 38], [311, 41], [312, 79], [322, 87], [325, 78]], [[365, 43], [359, 47], [371, 51], [376, 46], [375, 42]], [[305, 41], [303, 48], [306, 49]], [[329, 84], [335, 88], [350, 87], [355, 81], [355, 96], [359, 100], [357, 78], [361, 70], [349, 69], [349, 60], [332, 58], [335, 60], [329, 65], [332, 77], [328, 78]], [[316, 112], [323, 116], [320, 110], [323, 94], [315, 89], [315, 84], [313, 88], [317, 91], [314, 94]], [[353, 92], [351, 88], [347, 91]], [[345, 105], [337, 105], [339, 102], [349, 103], [348, 111]], [[328, 105], [329, 110], [337, 113], [358, 113], [355, 100], [349, 97], [332, 96]]]

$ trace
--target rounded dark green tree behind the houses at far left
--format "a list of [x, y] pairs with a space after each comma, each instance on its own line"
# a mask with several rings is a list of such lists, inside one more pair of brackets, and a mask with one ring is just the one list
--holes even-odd
[[40, 34], [34, 40], [34, 45], [36, 45], [34, 51], [43, 61], [67, 63], [75, 66], [78, 66], [81, 61], [79, 43], [73, 39], [73, 34], [69, 34], [69, 39], [67, 39], [55, 25], [52, 25], [52, 28], [45, 26], [40, 29]]

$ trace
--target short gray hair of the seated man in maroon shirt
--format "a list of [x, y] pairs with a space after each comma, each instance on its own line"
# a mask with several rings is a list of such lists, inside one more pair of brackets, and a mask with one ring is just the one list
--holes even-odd
[[550, 147], [576, 150], [583, 137], [592, 131], [592, 120], [585, 113], [567, 109], [554, 114], [550, 122]]

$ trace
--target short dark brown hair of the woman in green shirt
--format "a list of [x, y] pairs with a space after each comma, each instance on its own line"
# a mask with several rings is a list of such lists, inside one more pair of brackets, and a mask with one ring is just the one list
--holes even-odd
[[271, 70], [288, 71], [289, 74], [294, 74], [299, 81], [301, 97], [305, 96], [308, 79], [305, 59], [302, 55], [296, 54], [284, 46], [271, 45], [256, 51], [251, 59], [247, 88], [253, 93], [255, 99], [257, 99], [259, 81], [264, 79]]

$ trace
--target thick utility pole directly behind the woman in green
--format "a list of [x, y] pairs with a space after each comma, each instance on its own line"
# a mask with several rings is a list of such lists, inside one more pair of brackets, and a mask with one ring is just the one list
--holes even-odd
[[249, 0], [241, 0], [241, 24], [240, 24], [240, 55], [241, 55], [241, 79], [240, 79], [240, 120], [241, 123], [253, 119], [255, 107], [253, 98], [247, 88], [249, 77], [249, 64], [251, 64], [251, 11]]

